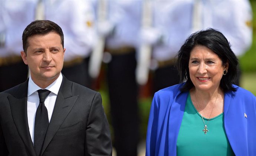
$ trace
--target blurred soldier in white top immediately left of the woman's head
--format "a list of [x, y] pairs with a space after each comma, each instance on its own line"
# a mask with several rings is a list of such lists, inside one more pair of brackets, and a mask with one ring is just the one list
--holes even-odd
[[152, 45], [151, 69], [154, 92], [178, 84], [175, 55], [190, 33], [191, 3], [179, 0], [152, 1], [152, 26], [141, 29], [141, 42]]

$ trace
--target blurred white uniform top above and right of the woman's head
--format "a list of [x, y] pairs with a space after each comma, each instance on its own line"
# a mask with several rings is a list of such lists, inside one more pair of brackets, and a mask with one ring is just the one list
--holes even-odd
[[211, 27], [221, 31], [237, 56], [250, 48], [252, 8], [248, 0], [195, 0], [194, 4], [199, 6], [198, 16], [201, 18], [201, 24], [194, 30]]

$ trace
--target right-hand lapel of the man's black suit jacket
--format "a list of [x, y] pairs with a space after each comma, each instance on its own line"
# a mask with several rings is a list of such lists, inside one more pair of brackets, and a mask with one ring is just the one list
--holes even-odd
[[47, 133], [45, 136], [45, 142], [42, 148], [42, 155], [46, 147], [52, 140], [53, 136], [55, 136], [56, 132], [62, 125], [66, 116], [73, 108], [77, 99], [78, 95], [72, 95], [71, 82], [63, 76], [62, 84], [60, 86], [55, 106], [53, 109], [52, 118], [50, 120], [49, 127], [47, 129]]

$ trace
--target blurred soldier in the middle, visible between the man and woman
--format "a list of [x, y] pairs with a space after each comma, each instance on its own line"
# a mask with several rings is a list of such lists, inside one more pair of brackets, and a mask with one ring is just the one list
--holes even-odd
[[[100, 5], [101, 1], [95, 4]], [[106, 20], [98, 22], [105, 36], [105, 56], [110, 56], [107, 78], [118, 156], [136, 156], [139, 133], [137, 83], [135, 80], [140, 0], [105, 0]], [[96, 6], [96, 8], [98, 8]]]

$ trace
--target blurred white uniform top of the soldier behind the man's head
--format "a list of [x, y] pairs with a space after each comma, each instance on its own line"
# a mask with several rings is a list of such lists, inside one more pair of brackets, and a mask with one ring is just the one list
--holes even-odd
[[86, 0], [44, 0], [45, 20], [58, 24], [65, 37], [65, 61], [88, 57], [94, 42], [94, 12]]

